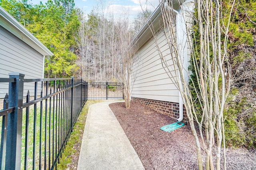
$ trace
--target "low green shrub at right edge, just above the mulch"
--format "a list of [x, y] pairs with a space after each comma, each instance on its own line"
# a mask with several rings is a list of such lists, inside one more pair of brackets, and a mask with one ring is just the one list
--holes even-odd
[[256, 148], [256, 109], [246, 97], [236, 100], [237, 89], [232, 89], [224, 110], [225, 140], [227, 146]]

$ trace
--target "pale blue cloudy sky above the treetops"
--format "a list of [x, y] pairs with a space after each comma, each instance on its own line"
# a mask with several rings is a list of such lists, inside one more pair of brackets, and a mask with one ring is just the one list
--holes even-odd
[[[43, 4], [47, 0], [32, 0], [32, 4], [39, 4], [42, 1]], [[131, 17], [135, 17], [142, 11], [142, 7], [147, 6], [148, 9], [154, 11], [158, 6], [159, 0], [105, 0], [106, 11], [111, 11], [114, 14], [129, 14]], [[107, 2], [108, 1], [108, 2]], [[85, 14], [89, 14], [91, 10], [97, 6], [99, 0], [74, 0], [76, 7], [82, 9]], [[142, 7], [141, 7], [142, 5]], [[102, 8], [98, 8], [100, 12]]]

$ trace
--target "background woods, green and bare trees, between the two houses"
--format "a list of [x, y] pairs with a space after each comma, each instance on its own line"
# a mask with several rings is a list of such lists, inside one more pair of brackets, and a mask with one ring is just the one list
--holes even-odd
[[[120, 29], [131, 36], [134, 32], [124, 26], [131, 22], [125, 15], [105, 16], [105, 1], [98, 2], [87, 16], [75, 7], [74, 0], [48, 0], [36, 5], [30, 0], [1, 0], [0, 5], [54, 53], [45, 59], [45, 78], [117, 81], [122, 53], [118, 48]], [[136, 23], [137, 31], [141, 24]]]

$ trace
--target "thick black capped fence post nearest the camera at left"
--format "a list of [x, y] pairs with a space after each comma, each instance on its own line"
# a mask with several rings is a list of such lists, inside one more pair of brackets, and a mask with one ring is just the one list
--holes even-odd
[[21, 136], [22, 136], [22, 104], [24, 74], [9, 73], [10, 78], [16, 78], [16, 82], [9, 83], [9, 108], [15, 107], [15, 111], [8, 116], [6, 133], [6, 170], [20, 170], [21, 161]]

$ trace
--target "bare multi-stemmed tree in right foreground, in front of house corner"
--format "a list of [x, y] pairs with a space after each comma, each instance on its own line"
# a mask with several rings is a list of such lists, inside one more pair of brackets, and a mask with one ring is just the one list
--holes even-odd
[[[150, 20], [148, 27], [156, 42], [162, 65], [181, 93], [196, 142], [198, 168], [203, 169], [202, 146], [206, 153], [205, 168], [219, 170], [221, 145], [225, 146], [223, 110], [231, 82], [230, 79], [226, 81], [225, 76], [230, 74], [227, 56], [228, 28], [235, 0], [230, 2], [229, 11], [222, 10], [222, 3], [219, 0], [195, 0], [188, 3], [180, 1], [180, 11], [174, 10], [172, 2], [160, 0], [163, 21], [160, 32], [166, 36], [168, 54], [158, 43], [159, 31], [154, 30]], [[226, 14], [229, 15], [229, 19], [224, 22], [222, 16]], [[186, 52], [187, 46], [189, 52]], [[191, 78], [186, 55], [190, 56], [188, 59], [190, 59], [190, 67], [194, 70], [195, 79]], [[196, 97], [192, 92], [195, 92]], [[194, 122], [199, 127], [199, 132]], [[215, 141], [214, 165], [212, 148]], [[226, 169], [225, 148], [223, 156], [223, 166]]]

